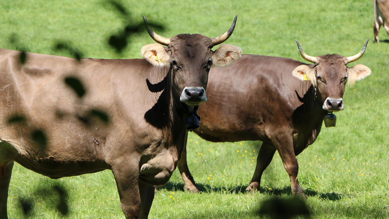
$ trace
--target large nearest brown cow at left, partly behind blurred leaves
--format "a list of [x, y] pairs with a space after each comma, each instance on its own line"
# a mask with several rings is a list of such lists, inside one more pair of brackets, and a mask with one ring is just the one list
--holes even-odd
[[[21, 52], [0, 49], [0, 218], [7, 218], [14, 161], [51, 178], [112, 170], [125, 217], [147, 218], [153, 186], [165, 184], [180, 159], [192, 106], [206, 101], [210, 66], [240, 57], [237, 46], [211, 50], [230, 37], [236, 19], [219, 37], [169, 39], [144, 18], [159, 43], [142, 48], [144, 59], [27, 53], [21, 64]], [[68, 76], [83, 83], [82, 98], [63, 83]]]

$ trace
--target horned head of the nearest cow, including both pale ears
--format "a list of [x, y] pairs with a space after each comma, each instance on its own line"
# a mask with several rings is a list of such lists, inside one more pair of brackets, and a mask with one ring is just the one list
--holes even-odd
[[237, 16], [227, 32], [212, 39], [200, 34], [161, 37], [151, 30], [144, 16], [143, 19], [147, 32], [158, 44], [142, 47], [142, 56], [153, 65], [170, 66], [173, 95], [188, 106], [207, 101], [205, 89], [211, 65], [226, 66], [241, 56], [242, 49], [232, 45], [221, 45], [212, 51], [212, 47], [230, 37]]

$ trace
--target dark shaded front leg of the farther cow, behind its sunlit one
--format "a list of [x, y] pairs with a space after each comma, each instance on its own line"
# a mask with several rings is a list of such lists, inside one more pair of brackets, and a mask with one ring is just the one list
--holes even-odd
[[273, 159], [275, 147], [269, 143], [262, 143], [257, 156], [257, 165], [255, 167], [254, 175], [251, 178], [251, 184], [246, 188], [246, 191], [259, 191], [261, 184], [261, 177], [263, 171], [270, 164]]

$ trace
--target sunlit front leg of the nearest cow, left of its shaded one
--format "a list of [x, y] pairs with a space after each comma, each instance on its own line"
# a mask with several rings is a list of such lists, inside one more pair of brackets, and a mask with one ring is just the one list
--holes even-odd
[[124, 216], [126, 219], [135, 219], [138, 218], [141, 208], [138, 186], [139, 170], [130, 170], [129, 166], [133, 165], [122, 162], [115, 167], [112, 166], [112, 173], [115, 177]]

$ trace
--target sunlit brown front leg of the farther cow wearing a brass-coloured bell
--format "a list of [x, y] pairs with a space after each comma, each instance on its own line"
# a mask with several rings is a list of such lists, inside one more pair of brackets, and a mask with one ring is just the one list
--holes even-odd
[[292, 193], [307, 198], [297, 179], [298, 162], [296, 154], [294, 154], [292, 134], [288, 132], [277, 132], [271, 140], [277, 148], [284, 168], [291, 180]]

